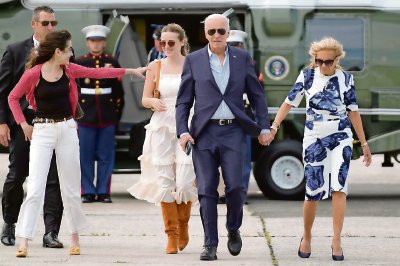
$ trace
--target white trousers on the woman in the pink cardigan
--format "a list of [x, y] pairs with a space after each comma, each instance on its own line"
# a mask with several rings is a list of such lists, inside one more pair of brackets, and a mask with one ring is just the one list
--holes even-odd
[[33, 239], [43, 209], [47, 175], [53, 150], [56, 153], [61, 196], [69, 232], [88, 228], [81, 208], [81, 170], [77, 123], [73, 119], [58, 123], [36, 123], [33, 128], [29, 159], [27, 196], [21, 206], [16, 236]]

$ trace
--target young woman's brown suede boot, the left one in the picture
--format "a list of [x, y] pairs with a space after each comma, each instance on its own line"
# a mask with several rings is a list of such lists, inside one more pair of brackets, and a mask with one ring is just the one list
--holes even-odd
[[165, 249], [167, 254], [178, 253], [178, 208], [176, 202], [161, 202], [164, 218], [165, 233], [168, 243]]

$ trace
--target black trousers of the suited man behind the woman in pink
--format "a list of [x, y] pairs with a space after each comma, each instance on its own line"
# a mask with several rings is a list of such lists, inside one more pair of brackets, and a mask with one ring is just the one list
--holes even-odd
[[[33, 111], [28, 112], [28, 114], [25, 114], [25, 117], [29, 122], [34, 118], [34, 114]], [[10, 127], [10, 134], [9, 172], [4, 182], [1, 203], [4, 222], [14, 224], [18, 220], [18, 214], [24, 199], [24, 189], [22, 185], [29, 174], [30, 142], [25, 141], [21, 126], [15, 123]], [[57, 165], [55, 154], [53, 154], [49, 174], [47, 176], [43, 206], [45, 233], [54, 231], [58, 234], [63, 209]]]

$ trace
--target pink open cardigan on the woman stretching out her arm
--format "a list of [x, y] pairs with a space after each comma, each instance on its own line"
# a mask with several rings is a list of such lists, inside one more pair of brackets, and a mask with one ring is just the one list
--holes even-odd
[[[75, 117], [76, 106], [78, 104], [78, 88], [75, 79], [84, 77], [107, 79], [122, 77], [125, 74], [124, 68], [88, 68], [73, 63], [65, 65], [63, 68], [69, 79], [69, 102], [71, 104], [73, 117]], [[19, 99], [22, 98], [24, 94], [26, 95], [26, 99], [32, 106], [33, 110], [36, 111], [37, 107], [34, 92], [36, 85], [39, 82], [41, 69], [42, 64], [26, 70], [8, 96], [8, 104], [10, 105], [11, 112], [13, 113], [14, 119], [18, 124], [25, 121], [24, 114], [22, 113], [21, 106], [19, 105]]]

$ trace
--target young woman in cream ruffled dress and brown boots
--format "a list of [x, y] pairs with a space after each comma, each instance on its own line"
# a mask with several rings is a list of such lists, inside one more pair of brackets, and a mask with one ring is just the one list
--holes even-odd
[[137, 199], [161, 205], [168, 235], [167, 254], [183, 250], [189, 242], [188, 222], [192, 202], [197, 201], [192, 156], [182, 151], [176, 136], [175, 102], [189, 45], [185, 31], [177, 24], [162, 29], [162, 59], [159, 92], [153, 97], [156, 62], [149, 64], [142, 103], [154, 114], [146, 125], [143, 154], [139, 157], [141, 177], [128, 191]]

